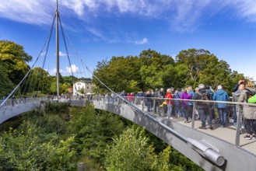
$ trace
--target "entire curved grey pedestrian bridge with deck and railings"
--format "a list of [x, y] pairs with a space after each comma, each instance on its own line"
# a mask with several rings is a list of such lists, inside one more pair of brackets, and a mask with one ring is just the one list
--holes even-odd
[[[0, 108], [0, 123], [20, 113], [44, 107], [42, 101], [47, 99], [10, 99]], [[179, 152], [186, 155], [193, 162], [205, 170], [256, 170], [256, 139], [244, 138], [245, 130], [242, 115], [237, 118], [237, 127], [228, 123], [221, 127], [217, 120], [212, 124], [213, 130], [199, 129], [201, 120], [196, 119], [196, 100], [193, 101], [193, 115], [188, 123], [183, 117], [168, 119], [164, 116], [164, 109], [160, 106], [164, 99], [152, 99], [152, 106], [148, 109], [147, 99], [110, 96], [93, 96], [86, 99], [58, 99], [59, 102], [70, 102], [72, 106], [84, 106], [89, 100], [96, 109], [107, 110], [139, 124], [157, 137], [166, 141]], [[212, 102], [213, 103], [213, 102]], [[218, 102], [221, 103], [221, 102]], [[230, 109], [241, 106], [239, 103], [227, 103]], [[180, 106], [181, 109], [183, 106]], [[256, 107], [256, 106], [252, 106]], [[153, 112], [155, 111], [155, 112]], [[160, 115], [162, 117], [160, 117]], [[173, 113], [175, 115], [175, 113]], [[216, 113], [217, 115], [217, 113]], [[232, 121], [228, 111], [228, 120]]]

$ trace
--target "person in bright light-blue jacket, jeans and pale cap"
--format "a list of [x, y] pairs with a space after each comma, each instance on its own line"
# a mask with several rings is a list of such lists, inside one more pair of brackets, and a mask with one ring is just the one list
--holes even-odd
[[[225, 90], [223, 90], [223, 86], [219, 85], [218, 90], [214, 93], [212, 100], [216, 101], [229, 101], [230, 96], [227, 94]], [[226, 127], [226, 111], [227, 104], [226, 103], [217, 103], [216, 104], [218, 113], [219, 113], [219, 121], [222, 124], [222, 127]]]

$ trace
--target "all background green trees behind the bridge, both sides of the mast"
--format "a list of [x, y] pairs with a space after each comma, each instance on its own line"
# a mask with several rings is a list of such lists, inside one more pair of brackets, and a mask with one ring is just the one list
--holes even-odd
[[[0, 79], [3, 80], [0, 82], [0, 97], [9, 95], [23, 79], [30, 69], [27, 63], [31, 59], [21, 45], [0, 40]], [[94, 75], [115, 92], [139, 92], [160, 87], [195, 88], [199, 83], [210, 85], [213, 89], [222, 85], [232, 92], [238, 80], [246, 79], [247, 82], [243, 74], [232, 71], [226, 61], [219, 60], [204, 49], [183, 50], [176, 57], [150, 49], [138, 56], [112, 57], [110, 61], [98, 62]], [[67, 93], [77, 80], [74, 76], [60, 75], [60, 93]], [[96, 79], [93, 82], [96, 83], [95, 92], [107, 92]], [[56, 94], [56, 77], [40, 67], [33, 68], [19, 91], [25, 96]]]

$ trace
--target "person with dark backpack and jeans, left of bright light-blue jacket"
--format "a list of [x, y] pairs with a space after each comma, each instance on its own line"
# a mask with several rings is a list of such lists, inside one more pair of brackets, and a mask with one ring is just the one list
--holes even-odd
[[[199, 91], [195, 93], [192, 99], [204, 100], [208, 101], [210, 99], [209, 93], [206, 92], [205, 86], [203, 84], [198, 85]], [[209, 103], [208, 102], [196, 102], [198, 112], [201, 118], [202, 126], [199, 127], [201, 129], [206, 129], [205, 125], [205, 117], [207, 123], [209, 124], [209, 128], [213, 130], [212, 127], [212, 117], [209, 113]]]

